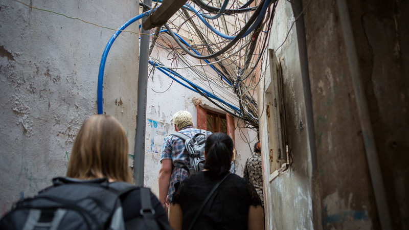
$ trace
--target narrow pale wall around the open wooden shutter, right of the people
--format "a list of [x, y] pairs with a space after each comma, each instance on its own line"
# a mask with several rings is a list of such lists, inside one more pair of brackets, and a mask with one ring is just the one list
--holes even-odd
[[[287, 1], [280, 1], [271, 28], [269, 49], [275, 50], [282, 67], [289, 169], [271, 181], [268, 179], [272, 173], [270, 171], [269, 149], [274, 149], [274, 147], [268, 146], [268, 132], [272, 130], [266, 130], [266, 109], [265, 106], [262, 106], [265, 102], [263, 92], [268, 86], [263, 87], [263, 85], [274, 80], [271, 79], [272, 73], [270, 73], [267, 57], [263, 67], [266, 70], [265, 76], [263, 76], [265, 79], [261, 80], [264, 84], [259, 86], [266, 229], [313, 228], [311, 160], [305, 128], [306, 115], [297, 34], [296, 28], [291, 27], [293, 21], [291, 4]], [[285, 39], [287, 34], [288, 37]], [[271, 107], [270, 114], [272, 114]]]

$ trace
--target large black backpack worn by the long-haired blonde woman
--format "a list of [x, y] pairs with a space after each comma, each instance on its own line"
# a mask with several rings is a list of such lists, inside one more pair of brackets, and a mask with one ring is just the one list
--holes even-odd
[[155, 220], [147, 188], [141, 188], [142, 217], [124, 222], [120, 196], [135, 189], [105, 178], [57, 177], [37, 196], [18, 201], [0, 220], [0, 229], [171, 229]]

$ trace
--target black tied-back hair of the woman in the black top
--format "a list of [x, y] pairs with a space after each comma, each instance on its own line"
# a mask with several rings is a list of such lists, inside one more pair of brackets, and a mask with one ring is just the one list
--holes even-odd
[[233, 140], [228, 134], [216, 132], [206, 140], [206, 164], [205, 169], [221, 175], [230, 169], [233, 157]]

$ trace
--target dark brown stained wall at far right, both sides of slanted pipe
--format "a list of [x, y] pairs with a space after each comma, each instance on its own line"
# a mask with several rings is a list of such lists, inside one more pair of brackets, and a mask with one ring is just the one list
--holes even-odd
[[[407, 3], [346, 1], [369, 118], [358, 116], [357, 95], [336, 1], [311, 3], [305, 15], [317, 149], [317, 228], [380, 228], [361, 128], [374, 132], [379, 178], [394, 229], [408, 227]], [[304, 7], [307, 2], [303, 3]], [[319, 13], [317, 13], [319, 12]], [[362, 109], [362, 107], [361, 107]], [[403, 153], [405, 152], [405, 153]], [[378, 190], [377, 187], [375, 187]], [[320, 217], [321, 216], [321, 217]], [[318, 227], [319, 226], [319, 227]]]

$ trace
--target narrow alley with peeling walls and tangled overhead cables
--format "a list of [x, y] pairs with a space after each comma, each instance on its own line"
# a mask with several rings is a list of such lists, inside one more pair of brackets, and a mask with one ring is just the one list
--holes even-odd
[[230, 136], [234, 174], [261, 159], [265, 229], [409, 229], [407, 12], [401, 0], [2, 0], [0, 215], [66, 175], [93, 114], [118, 119], [134, 184], [159, 197], [164, 139], [186, 110]]

